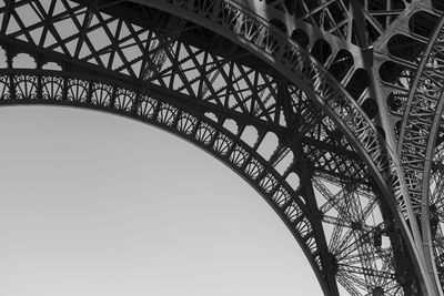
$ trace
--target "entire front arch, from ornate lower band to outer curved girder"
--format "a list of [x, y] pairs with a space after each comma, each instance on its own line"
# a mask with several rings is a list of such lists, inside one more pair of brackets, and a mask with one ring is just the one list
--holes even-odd
[[[394, 254], [401, 236], [389, 229], [396, 202], [408, 216], [410, 201], [400, 190], [401, 164], [363, 111], [365, 94], [353, 99], [319, 61], [235, 1], [150, 2], [206, 27], [123, 2], [6, 1], [0, 104], [101, 110], [193, 142], [261, 193], [326, 295], [339, 294], [336, 282], [351, 295], [403, 295], [400, 278], [412, 265], [394, 266], [410, 258]], [[14, 67], [21, 53], [36, 67]], [[47, 70], [52, 63], [57, 70]], [[389, 214], [381, 210], [387, 205]]]

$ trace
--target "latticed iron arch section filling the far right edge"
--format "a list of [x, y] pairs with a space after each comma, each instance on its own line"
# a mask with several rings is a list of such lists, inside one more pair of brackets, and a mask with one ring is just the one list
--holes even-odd
[[[415, 2], [387, 38], [391, 58], [381, 63], [392, 74], [381, 74], [393, 119], [407, 190], [415, 208], [430, 269], [443, 282], [442, 113], [443, 7], [438, 1]], [[380, 73], [381, 70], [380, 70]], [[400, 73], [397, 76], [393, 73]], [[434, 262], [434, 264], [433, 264]], [[442, 293], [442, 292], [441, 292]]]

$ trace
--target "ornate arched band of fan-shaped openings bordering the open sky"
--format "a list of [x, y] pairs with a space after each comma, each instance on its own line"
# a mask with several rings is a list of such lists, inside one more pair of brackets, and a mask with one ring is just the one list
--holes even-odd
[[[38, 86], [34, 89], [30, 89], [30, 93], [24, 98], [18, 98], [18, 93], [14, 93], [16, 86], [14, 84], [14, 76], [23, 76], [23, 75], [32, 75], [38, 82]], [[84, 94], [85, 96], [82, 99], [82, 101], [77, 101], [72, 99], [68, 99], [68, 92], [67, 90], [62, 90], [61, 96], [54, 96], [54, 98], [46, 98], [44, 94], [42, 93], [42, 78], [47, 75], [48, 78], [57, 78], [61, 79], [63, 86], [67, 88], [67, 80], [68, 79], [73, 79], [77, 80], [77, 82], [84, 82], [85, 85], [88, 86], [85, 90], [88, 93]], [[232, 134], [230, 131], [224, 129], [223, 126], [219, 125], [216, 122], [212, 121], [211, 119], [204, 118], [200, 114], [193, 114], [191, 110], [184, 110], [183, 106], [174, 106], [170, 102], [165, 103], [162, 100], [159, 100], [155, 98], [155, 93], [153, 93], [152, 96], [149, 96], [152, 100], [155, 100], [158, 103], [158, 110], [153, 112], [160, 112], [159, 109], [162, 108], [173, 108], [176, 109], [176, 119], [173, 121], [178, 121], [180, 115], [183, 113], [186, 113], [193, 118], [194, 126], [192, 133], [189, 130], [186, 131], [181, 131], [179, 130], [173, 122], [162, 122], [159, 118], [158, 114], [153, 114], [151, 118], [138, 114], [137, 110], [138, 106], [134, 106], [135, 104], [140, 104], [142, 101], [140, 101], [140, 98], [137, 99], [135, 96], [132, 98], [132, 105], [131, 109], [129, 110], [122, 110], [119, 109], [114, 102], [113, 105], [104, 105], [104, 104], [97, 104], [91, 101], [91, 91], [92, 91], [92, 83], [103, 83], [102, 80], [97, 79], [92, 80], [92, 76], [88, 76], [88, 80], [84, 80], [84, 75], [75, 75], [75, 74], [67, 74], [67, 73], [58, 73], [57, 71], [42, 71], [42, 70], [0, 70], [0, 106], [7, 106], [7, 105], [60, 105], [60, 106], [71, 106], [71, 108], [81, 108], [81, 109], [88, 109], [88, 110], [94, 110], [94, 111], [101, 111], [105, 113], [112, 113], [115, 115], [121, 115], [124, 118], [129, 118], [132, 120], [137, 120], [142, 123], [148, 123], [150, 125], [157, 126], [163, 131], [170, 132], [186, 142], [190, 142], [201, 150], [205, 151], [210, 155], [214, 156], [215, 159], [220, 160], [222, 163], [224, 163], [226, 166], [229, 166], [233, 172], [235, 172], [238, 175], [240, 175], [248, 184], [250, 184], [264, 200], [265, 202], [273, 208], [273, 211], [280, 216], [280, 218], [284, 222], [286, 227], [290, 229], [292, 235], [295, 237], [296, 242], [301, 246], [302, 251], [304, 252], [310, 265], [312, 266], [312, 269], [320, 283], [320, 286], [322, 290], [324, 292], [325, 295], [339, 295], [337, 287], [336, 290], [332, 290], [332, 287], [326, 284], [325, 276], [326, 272], [323, 269], [322, 263], [320, 259], [316, 261], [316, 256], [320, 256], [320, 252], [317, 252], [319, 247], [316, 247], [316, 241], [311, 241], [311, 237], [313, 237], [313, 233], [310, 232], [306, 227], [312, 227], [311, 224], [313, 221], [310, 218], [310, 215], [307, 215], [307, 208], [302, 200], [300, 200], [300, 195], [297, 194], [297, 191], [294, 191], [285, 180], [280, 177], [280, 174], [271, 167], [268, 162], [260, 155], [258, 152], [255, 152], [253, 149], [251, 149], [246, 143], [244, 143], [242, 140], [239, 139], [239, 136]], [[4, 80], [7, 83], [11, 83], [11, 85], [8, 85], [10, 91], [9, 93], [6, 93], [4, 86]], [[131, 88], [130, 85], [123, 85], [120, 88], [120, 83], [112, 83], [112, 81], [107, 80], [104, 83], [109, 85], [112, 89], [113, 95], [117, 95], [117, 89], [123, 90], [123, 91], [130, 91], [132, 93], [137, 93], [137, 89]], [[2, 85], [3, 84], [3, 85]], [[140, 96], [140, 94], [137, 94], [137, 96]], [[115, 98], [113, 99], [115, 100]], [[161, 106], [159, 106], [161, 105]], [[175, 122], [178, 124], [178, 122]], [[212, 135], [212, 139], [209, 141], [209, 143], [204, 143], [200, 139], [196, 137], [196, 132], [200, 127], [202, 126], [209, 126], [213, 129], [214, 133]], [[225, 149], [225, 154], [222, 153], [221, 151], [218, 151], [214, 146], [214, 142], [218, 140], [218, 136], [222, 136], [226, 143], [231, 142], [228, 144]], [[222, 139], [220, 137], [220, 139]], [[235, 163], [233, 160], [230, 159], [232, 153], [235, 149], [241, 149], [245, 155], [243, 155], [243, 163], [240, 165], [239, 163]], [[229, 152], [226, 152], [229, 151]], [[262, 172], [255, 175], [253, 177], [249, 172], [246, 171], [246, 166], [249, 164], [252, 164], [252, 161], [255, 161], [256, 164], [262, 165]], [[268, 178], [268, 176], [271, 176]], [[273, 180], [273, 181], [271, 181]], [[269, 181], [269, 182], [263, 182], [263, 181]], [[270, 185], [270, 182], [272, 183]], [[275, 200], [274, 194], [279, 191], [282, 191], [287, 194], [287, 198], [282, 202], [281, 200]], [[289, 217], [286, 211], [290, 206], [295, 206], [297, 205], [297, 208], [294, 210], [299, 212], [299, 216], [295, 217], [293, 221], [291, 217]], [[292, 212], [293, 213], [293, 212]], [[300, 226], [301, 228], [304, 228], [306, 231], [306, 235], [303, 236], [297, 231], [297, 224], [299, 223], [304, 223], [303, 226]], [[312, 248], [307, 245], [309, 242]]]

